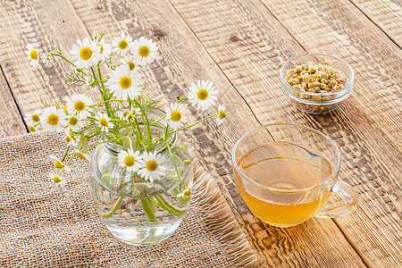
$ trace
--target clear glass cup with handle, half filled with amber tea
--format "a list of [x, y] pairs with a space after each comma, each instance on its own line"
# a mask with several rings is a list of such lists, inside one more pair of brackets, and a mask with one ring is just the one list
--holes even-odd
[[[356, 208], [356, 192], [338, 181], [339, 149], [317, 130], [294, 124], [251, 130], [234, 147], [232, 164], [240, 196], [273, 226], [347, 215]], [[332, 192], [346, 197], [348, 205], [325, 207]]]

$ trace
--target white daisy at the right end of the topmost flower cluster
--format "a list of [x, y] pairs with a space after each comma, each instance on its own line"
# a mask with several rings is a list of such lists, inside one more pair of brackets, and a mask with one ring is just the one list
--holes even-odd
[[134, 58], [138, 60], [138, 64], [145, 66], [155, 61], [158, 46], [156, 46], [152, 39], [142, 37], [132, 43], [130, 50], [134, 54]]

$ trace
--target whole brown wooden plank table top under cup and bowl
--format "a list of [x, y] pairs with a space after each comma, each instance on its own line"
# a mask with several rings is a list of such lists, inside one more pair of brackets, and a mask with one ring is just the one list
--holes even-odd
[[[52, 0], [0, 3], [0, 137], [27, 133], [23, 114], [77, 92], [66, 66], [33, 69], [29, 42], [42, 51], [59, 40], [121, 31], [154, 38], [157, 61], [144, 68], [153, 95], [184, 95], [197, 79], [214, 80], [225, 103], [222, 128], [189, 130], [248, 239], [271, 266], [397, 267], [401, 255], [402, 8], [395, 0]], [[334, 112], [309, 115], [289, 104], [281, 65], [304, 53], [336, 55], [356, 72], [353, 94]], [[339, 145], [340, 180], [359, 196], [354, 214], [312, 219], [289, 229], [260, 222], [243, 203], [230, 168], [231, 149], [258, 125], [294, 122]]]

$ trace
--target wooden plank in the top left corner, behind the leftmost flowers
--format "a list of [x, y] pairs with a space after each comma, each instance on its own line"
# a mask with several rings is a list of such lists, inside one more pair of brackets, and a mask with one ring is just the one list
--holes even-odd
[[13, 96], [22, 114], [42, 108], [63, 96], [77, 92], [65, 82], [68, 64], [56, 68], [29, 65], [25, 46], [31, 43], [39, 52], [51, 51], [60, 41], [68, 54], [78, 38], [88, 37], [68, 1], [3, 1], [0, 3], [0, 60]]

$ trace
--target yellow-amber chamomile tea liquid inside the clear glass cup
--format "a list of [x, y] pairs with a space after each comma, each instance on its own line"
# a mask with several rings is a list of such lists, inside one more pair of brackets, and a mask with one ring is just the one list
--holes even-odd
[[[272, 142], [247, 153], [239, 169], [258, 184], [280, 190], [310, 188], [331, 175], [331, 164], [314, 152], [288, 142]], [[234, 172], [239, 193], [262, 221], [278, 227], [305, 222], [325, 204], [331, 191], [321, 188], [301, 193], [278, 193], [241, 180]]]

